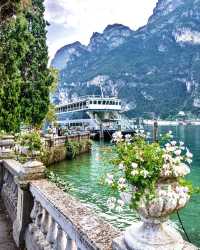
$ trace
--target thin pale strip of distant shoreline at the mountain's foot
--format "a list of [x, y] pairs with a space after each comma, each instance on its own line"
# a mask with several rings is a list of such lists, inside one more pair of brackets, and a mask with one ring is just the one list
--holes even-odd
[[[145, 125], [152, 125], [154, 124], [154, 120], [143, 120]], [[195, 125], [200, 126], [200, 121], [167, 121], [167, 120], [158, 120], [159, 126], [179, 126], [179, 125]]]

